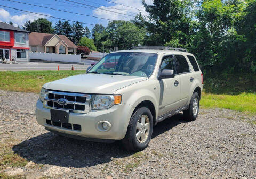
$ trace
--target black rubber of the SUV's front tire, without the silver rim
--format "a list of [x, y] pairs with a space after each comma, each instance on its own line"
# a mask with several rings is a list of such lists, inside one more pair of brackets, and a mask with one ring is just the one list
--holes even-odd
[[[147, 115], [150, 127], [148, 129], [149, 133], [148, 133], [147, 139], [143, 143], [140, 143], [137, 140], [136, 133], [137, 133], [137, 122], [140, 120], [140, 117], [142, 115]], [[152, 116], [150, 110], [146, 107], [138, 108], [135, 111], [135, 113], [132, 115], [129, 125], [128, 125], [128, 128], [127, 128], [126, 135], [122, 139], [124, 148], [126, 148], [128, 150], [132, 150], [132, 151], [141, 151], [141, 150], [145, 149], [148, 146], [148, 143], [151, 139], [152, 132], [153, 132], [153, 116]]]

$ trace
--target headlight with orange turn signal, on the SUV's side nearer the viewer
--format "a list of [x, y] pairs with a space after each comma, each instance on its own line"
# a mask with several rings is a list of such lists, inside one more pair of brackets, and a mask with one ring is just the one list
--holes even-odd
[[113, 105], [121, 104], [121, 95], [95, 95], [92, 109], [107, 109]]

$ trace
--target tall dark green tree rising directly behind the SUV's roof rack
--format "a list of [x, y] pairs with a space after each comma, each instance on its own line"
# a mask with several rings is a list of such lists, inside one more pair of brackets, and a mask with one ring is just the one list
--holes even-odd
[[154, 0], [153, 5], [143, 0], [142, 4], [149, 14], [149, 21], [143, 21], [148, 32], [147, 45], [188, 44], [193, 33], [191, 0]]

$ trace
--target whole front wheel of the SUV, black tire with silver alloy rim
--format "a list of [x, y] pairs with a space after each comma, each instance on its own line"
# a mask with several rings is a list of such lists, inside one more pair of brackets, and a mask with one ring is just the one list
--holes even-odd
[[[143, 120], [143, 118], [145, 118]], [[145, 125], [143, 124], [143, 121]], [[138, 127], [137, 127], [137, 123]], [[148, 124], [149, 123], [149, 124]], [[143, 127], [141, 127], [143, 126]], [[148, 128], [149, 127], [149, 128]], [[146, 107], [138, 108], [132, 115], [125, 137], [122, 139], [124, 148], [141, 151], [148, 146], [153, 132], [153, 116]], [[143, 137], [145, 135], [145, 137]], [[137, 136], [139, 139], [137, 139]]]

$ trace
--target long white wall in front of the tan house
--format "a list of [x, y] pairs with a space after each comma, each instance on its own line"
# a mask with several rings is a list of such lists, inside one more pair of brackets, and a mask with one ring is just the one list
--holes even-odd
[[76, 62], [81, 63], [81, 55], [66, 55], [54, 53], [33, 53], [29, 52], [30, 59], [41, 59], [45, 61]]

